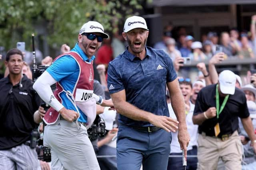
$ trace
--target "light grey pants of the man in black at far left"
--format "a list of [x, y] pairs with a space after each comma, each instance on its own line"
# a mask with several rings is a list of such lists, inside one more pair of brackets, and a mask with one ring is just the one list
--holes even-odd
[[0, 150], [0, 170], [41, 170], [36, 149], [19, 145]]

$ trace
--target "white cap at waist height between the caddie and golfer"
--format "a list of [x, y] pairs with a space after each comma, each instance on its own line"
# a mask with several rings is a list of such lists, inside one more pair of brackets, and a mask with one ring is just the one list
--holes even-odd
[[108, 110], [110, 107], [105, 107], [104, 112], [99, 116], [105, 121], [105, 129], [111, 131], [114, 121], [116, 120], [116, 110]]

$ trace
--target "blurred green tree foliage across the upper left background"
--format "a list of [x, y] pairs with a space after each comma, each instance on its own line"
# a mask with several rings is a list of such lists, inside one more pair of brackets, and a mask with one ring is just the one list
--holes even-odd
[[[81, 26], [95, 20], [108, 31], [138, 15], [150, 0], [1, 0], [0, 46], [16, 47], [17, 41], [31, 44], [31, 33], [42, 34], [50, 47], [74, 44]], [[135, 12], [137, 11], [137, 13]], [[31, 49], [29, 49], [31, 51]]]

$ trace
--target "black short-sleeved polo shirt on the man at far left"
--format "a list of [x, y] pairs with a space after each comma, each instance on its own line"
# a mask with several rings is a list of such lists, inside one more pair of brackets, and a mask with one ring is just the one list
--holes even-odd
[[28, 141], [37, 127], [33, 115], [42, 100], [25, 75], [21, 84], [12, 86], [9, 77], [0, 80], [0, 150]]

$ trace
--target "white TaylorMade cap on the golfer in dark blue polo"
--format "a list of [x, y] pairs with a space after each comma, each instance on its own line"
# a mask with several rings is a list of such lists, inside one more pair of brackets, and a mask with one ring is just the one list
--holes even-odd
[[134, 28], [144, 28], [148, 30], [145, 19], [139, 16], [132, 16], [127, 18], [124, 23], [124, 32], [127, 33]]

